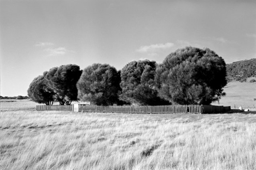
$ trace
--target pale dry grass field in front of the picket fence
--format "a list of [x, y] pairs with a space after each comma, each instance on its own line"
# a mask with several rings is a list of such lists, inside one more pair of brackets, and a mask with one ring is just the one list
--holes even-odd
[[0, 169], [256, 170], [256, 114], [0, 114]]

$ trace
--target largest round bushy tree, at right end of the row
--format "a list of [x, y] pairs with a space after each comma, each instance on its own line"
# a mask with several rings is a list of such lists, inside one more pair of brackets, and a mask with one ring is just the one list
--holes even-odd
[[211, 104], [225, 95], [226, 64], [209, 48], [181, 48], [158, 66], [155, 82], [159, 96], [172, 103]]

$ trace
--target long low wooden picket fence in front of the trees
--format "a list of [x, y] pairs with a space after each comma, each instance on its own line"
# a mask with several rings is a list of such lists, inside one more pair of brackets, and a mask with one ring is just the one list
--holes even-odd
[[[223, 113], [231, 110], [230, 106], [212, 105], [164, 105], [164, 106], [96, 106], [96, 105], [52, 105], [37, 106], [37, 110], [78, 111], [102, 113]], [[78, 108], [75, 108], [75, 107]]]

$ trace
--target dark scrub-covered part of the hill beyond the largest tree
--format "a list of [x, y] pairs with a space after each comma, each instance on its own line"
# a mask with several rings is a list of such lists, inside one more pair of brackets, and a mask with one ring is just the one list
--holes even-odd
[[228, 82], [245, 82], [247, 78], [256, 76], [256, 58], [227, 64], [226, 69]]

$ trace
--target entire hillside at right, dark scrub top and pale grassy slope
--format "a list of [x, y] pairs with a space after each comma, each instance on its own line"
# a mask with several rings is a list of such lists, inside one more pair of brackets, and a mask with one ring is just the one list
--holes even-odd
[[223, 96], [218, 102], [212, 103], [219, 106], [231, 106], [238, 108], [256, 108], [256, 83], [250, 83], [250, 80], [256, 80], [256, 58], [242, 60], [226, 65], [228, 84], [224, 87], [226, 96]]

